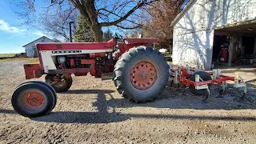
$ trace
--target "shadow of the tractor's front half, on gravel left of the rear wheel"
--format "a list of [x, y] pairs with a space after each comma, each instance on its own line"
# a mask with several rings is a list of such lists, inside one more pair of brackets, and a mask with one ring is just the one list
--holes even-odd
[[128, 119], [125, 114], [109, 110], [106, 100], [106, 94], [114, 93], [114, 90], [69, 90], [65, 94], [97, 94], [97, 101], [93, 106], [97, 107], [97, 112], [74, 112], [74, 111], [58, 111], [50, 114], [31, 118], [40, 122], [58, 122], [58, 123], [110, 123], [122, 122]]

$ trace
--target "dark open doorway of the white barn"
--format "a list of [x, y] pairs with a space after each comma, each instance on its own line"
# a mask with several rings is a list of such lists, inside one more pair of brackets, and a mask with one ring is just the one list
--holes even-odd
[[215, 66], [252, 65], [256, 62], [256, 22], [242, 22], [214, 30]]

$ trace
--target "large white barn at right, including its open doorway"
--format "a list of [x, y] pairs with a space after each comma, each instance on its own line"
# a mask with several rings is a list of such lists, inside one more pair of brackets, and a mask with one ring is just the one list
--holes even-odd
[[256, 58], [256, 0], [190, 0], [171, 26], [174, 64], [209, 70], [226, 41], [229, 65]]

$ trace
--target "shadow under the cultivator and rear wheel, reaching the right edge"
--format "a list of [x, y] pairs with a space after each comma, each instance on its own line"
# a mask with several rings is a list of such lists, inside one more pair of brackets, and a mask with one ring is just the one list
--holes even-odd
[[[108, 100], [109, 106], [114, 108], [130, 107], [154, 107], [169, 109], [191, 109], [191, 110], [256, 110], [256, 87], [247, 83], [247, 94], [242, 100], [243, 88], [234, 88], [228, 84], [228, 89], [219, 96], [219, 86], [212, 85], [210, 88], [210, 97], [206, 102], [202, 102], [204, 96], [196, 96], [184, 87], [175, 89], [166, 87], [166, 90], [154, 101], [146, 103], [127, 102], [124, 98], [111, 98]], [[185, 92], [184, 92], [185, 90]]]

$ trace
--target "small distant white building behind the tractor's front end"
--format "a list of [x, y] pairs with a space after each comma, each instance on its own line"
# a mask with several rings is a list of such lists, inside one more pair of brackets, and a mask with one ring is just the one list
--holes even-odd
[[41, 38], [38, 38], [38, 39], [34, 40], [33, 42], [30, 42], [30, 43], [26, 44], [25, 46], [22, 46], [22, 47], [25, 47], [26, 57], [34, 57], [34, 58], [38, 57], [38, 53], [37, 53], [37, 50], [35, 47], [35, 44], [38, 42], [60, 42], [60, 41], [58, 41], [57, 39], [50, 39], [45, 36], [42, 36]]

